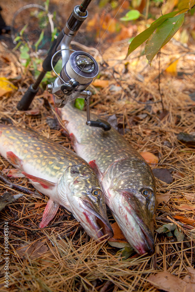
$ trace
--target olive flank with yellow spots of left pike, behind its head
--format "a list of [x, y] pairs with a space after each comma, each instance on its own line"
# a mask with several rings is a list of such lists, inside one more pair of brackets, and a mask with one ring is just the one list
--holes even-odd
[[[12, 151], [17, 157], [23, 157], [25, 163], [39, 168], [44, 174], [59, 177], [67, 166], [78, 164], [77, 154], [56, 142], [40, 138], [40, 135], [32, 131], [0, 124], [0, 136], [9, 147], [13, 146]], [[86, 163], [82, 159], [79, 164]]]

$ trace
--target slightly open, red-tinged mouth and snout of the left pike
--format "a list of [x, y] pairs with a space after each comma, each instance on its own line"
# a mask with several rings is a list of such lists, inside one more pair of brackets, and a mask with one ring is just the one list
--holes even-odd
[[[89, 236], [94, 238], [97, 242], [113, 237], [113, 230], [107, 215], [105, 214], [105, 216], [102, 216], [99, 214], [94, 208], [89, 206], [89, 202], [85, 201], [83, 198], [80, 198], [80, 201], [82, 202], [80, 205], [82, 205], [84, 209], [84, 218], [82, 218], [80, 223]], [[100, 209], [100, 213], [104, 212]]]

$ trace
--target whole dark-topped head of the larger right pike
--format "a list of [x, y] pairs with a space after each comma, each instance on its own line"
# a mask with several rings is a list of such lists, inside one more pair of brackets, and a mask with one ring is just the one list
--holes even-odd
[[123, 171], [108, 188], [108, 196], [113, 200], [113, 216], [137, 253], [152, 254], [155, 250], [155, 178], [150, 166], [143, 161], [131, 161], [128, 171], [126, 166], [121, 167]]

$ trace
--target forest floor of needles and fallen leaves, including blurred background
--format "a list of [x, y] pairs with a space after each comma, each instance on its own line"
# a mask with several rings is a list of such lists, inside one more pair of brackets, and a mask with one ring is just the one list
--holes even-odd
[[[8, 25], [17, 9], [29, 4], [28, 1], [16, 2], [12, 7], [13, 1], [6, 1], [10, 9], [2, 15], [6, 15]], [[34, 3], [43, 5], [43, 1]], [[77, 3], [80, 4], [79, 1], [51, 1], [51, 13], [56, 10], [59, 27], [63, 27]], [[6, 5], [2, 8], [7, 9]], [[90, 15], [94, 15], [93, 5], [89, 8]], [[124, 35], [109, 31], [94, 50], [102, 36], [96, 25], [100, 13], [98, 9], [75, 39], [82, 44], [80, 49], [93, 52], [100, 65], [99, 79], [90, 85], [93, 92], [91, 112], [104, 118], [112, 116], [117, 121], [120, 134], [135, 150], [150, 152], [157, 157], [158, 161], [151, 163], [157, 186], [155, 253], [139, 256], [133, 252], [124, 260], [121, 255], [125, 253], [122, 254], [118, 248], [111, 247], [106, 241], [98, 244], [90, 239], [73, 215], [63, 207], [59, 208], [47, 227], [40, 229], [39, 223], [49, 198], [37, 192], [30, 194], [24, 189], [17, 190], [13, 186], [23, 186], [34, 192], [27, 179], [9, 178], [5, 181], [2, 171], [12, 166], [0, 157], [1, 196], [5, 193], [9, 196], [21, 194], [0, 213], [0, 291], [195, 290], [195, 153], [193, 141], [186, 143], [178, 138], [179, 133], [195, 137], [194, 42], [183, 44], [177, 35], [162, 48], [151, 67], [142, 54], [144, 47], [138, 48], [124, 60], [128, 48], [125, 34], [128, 30], [130, 38], [131, 34], [136, 33], [134, 24], [128, 29], [123, 28]], [[109, 20], [110, 16], [107, 15], [107, 18]], [[21, 18], [18, 19], [20, 22]], [[44, 91], [44, 84], [32, 102], [36, 114], [17, 110], [16, 106], [27, 86], [34, 80], [34, 71], [31, 63], [27, 67], [22, 65], [21, 52], [13, 51], [13, 47], [10, 36], [1, 40], [0, 78], [8, 79], [15, 86], [15, 89], [4, 94], [0, 90], [1, 122], [32, 128], [40, 135], [72, 149], [62, 129], [51, 129], [48, 125], [48, 119], [55, 119], [56, 116], [49, 107], [51, 98]], [[32, 59], [37, 60], [44, 55], [44, 49], [41, 50], [38, 52], [40, 55], [32, 53]], [[174, 64], [172, 69], [170, 62]], [[36, 64], [40, 69], [41, 64]], [[108, 218], [113, 222], [109, 210]], [[4, 286], [4, 222], [8, 222], [9, 228], [8, 288]], [[173, 226], [170, 223], [175, 224], [175, 232], [174, 229], [169, 232], [168, 228]], [[162, 226], [167, 227], [164, 229], [166, 232], [156, 232]], [[183, 235], [183, 240], [179, 240], [178, 234]]]

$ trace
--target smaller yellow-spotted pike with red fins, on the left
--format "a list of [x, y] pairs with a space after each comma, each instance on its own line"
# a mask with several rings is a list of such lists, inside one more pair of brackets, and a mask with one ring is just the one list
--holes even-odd
[[0, 124], [0, 154], [17, 168], [10, 176], [26, 176], [38, 191], [50, 197], [41, 228], [61, 205], [94, 239], [113, 236], [99, 180], [76, 153], [32, 131]]

